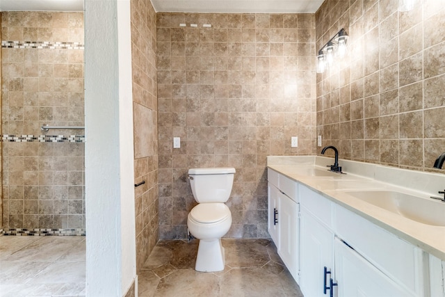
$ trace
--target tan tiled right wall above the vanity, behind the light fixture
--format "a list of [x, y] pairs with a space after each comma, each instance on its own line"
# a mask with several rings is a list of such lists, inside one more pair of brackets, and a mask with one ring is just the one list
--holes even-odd
[[316, 13], [321, 48], [341, 28], [345, 61], [317, 74], [317, 130], [340, 158], [431, 170], [445, 151], [445, 1], [327, 0]]

